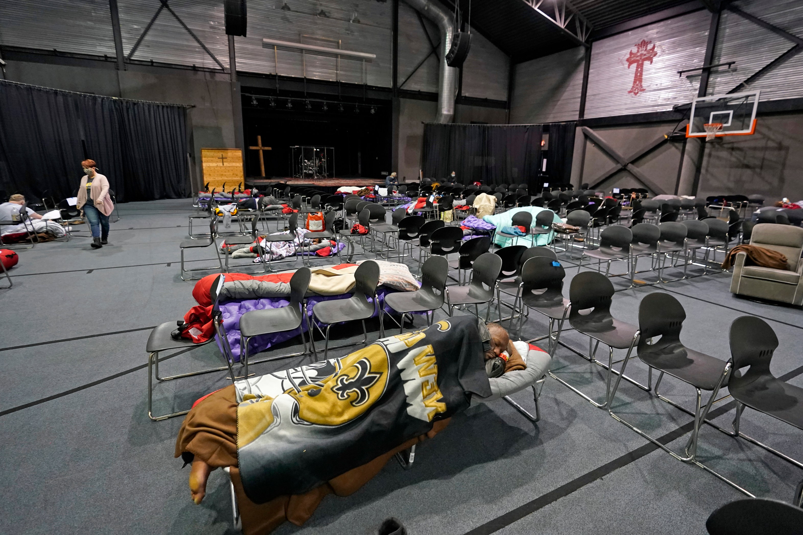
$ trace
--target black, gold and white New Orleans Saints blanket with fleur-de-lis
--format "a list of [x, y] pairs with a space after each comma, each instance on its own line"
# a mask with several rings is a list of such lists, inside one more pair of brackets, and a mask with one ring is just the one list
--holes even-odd
[[240, 475], [258, 504], [307, 492], [491, 395], [471, 316], [236, 387]]

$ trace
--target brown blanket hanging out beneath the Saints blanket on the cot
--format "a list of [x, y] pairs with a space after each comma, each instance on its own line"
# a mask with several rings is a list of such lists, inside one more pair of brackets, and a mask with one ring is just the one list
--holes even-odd
[[237, 468], [237, 398], [234, 385], [222, 388], [201, 399], [190, 411], [176, 439], [175, 456], [190, 452], [213, 468], [229, 466], [231, 482], [237, 493], [240, 517], [245, 535], [265, 535], [284, 521], [302, 525], [315, 513], [327, 494], [349, 496], [376, 476], [396, 452], [432, 438], [449, 424], [450, 419], [434, 423], [426, 435], [408, 440], [385, 455], [349, 470], [304, 494], [279, 496], [264, 504], [255, 504], [246, 496]]

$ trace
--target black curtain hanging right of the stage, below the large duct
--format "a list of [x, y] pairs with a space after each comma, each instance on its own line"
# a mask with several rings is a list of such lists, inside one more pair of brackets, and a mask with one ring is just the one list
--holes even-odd
[[[541, 153], [540, 124], [435, 124], [424, 127], [422, 170], [442, 180], [536, 186]], [[532, 182], [532, 184], [531, 184]]]

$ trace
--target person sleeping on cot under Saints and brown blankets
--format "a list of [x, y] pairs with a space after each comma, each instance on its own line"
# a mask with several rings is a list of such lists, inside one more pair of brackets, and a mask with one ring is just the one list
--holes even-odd
[[498, 325], [455, 316], [215, 391], [196, 402], [176, 440], [175, 456], [192, 464], [190, 497], [200, 504], [210, 472], [230, 467], [243, 533], [301, 525], [325, 495], [356, 492], [473, 397], [495, 399], [487, 359], [507, 352], [507, 375], [540, 378], [548, 354], [537, 351], [545, 362], [528, 370], [515, 343]]

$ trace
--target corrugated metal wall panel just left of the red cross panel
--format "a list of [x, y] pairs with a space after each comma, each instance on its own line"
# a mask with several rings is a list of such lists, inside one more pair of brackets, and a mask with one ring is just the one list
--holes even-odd
[[511, 124], [577, 120], [585, 48], [517, 63], [513, 75]]

